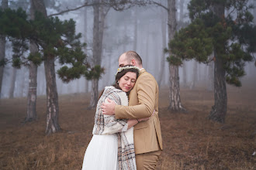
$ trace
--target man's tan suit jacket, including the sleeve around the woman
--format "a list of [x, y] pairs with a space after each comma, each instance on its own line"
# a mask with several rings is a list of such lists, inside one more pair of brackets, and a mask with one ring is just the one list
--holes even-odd
[[[150, 73], [140, 70], [140, 76], [129, 94], [129, 106], [115, 106], [116, 119], [150, 117], [134, 126], [135, 154], [163, 149], [158, 118], [158, 85]], [[154, 115], [151, 117], [154, 111]]]

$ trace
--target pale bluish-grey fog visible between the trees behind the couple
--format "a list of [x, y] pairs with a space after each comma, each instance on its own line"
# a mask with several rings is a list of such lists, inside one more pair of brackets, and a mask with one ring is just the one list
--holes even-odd
[[[23, 0], [24, 3], [27, 2]], [[1, 1], [0, 1], [1, 2]], [[60, 3], [61, 2], [61, 3]], [[68, 4], [67, 2], [71, 2]], [[61, 11], [68, 8], [74, 8], [82, 4], [81, 1], [56, 1], [56, 8], [47, 8], [47, 15], [57, 13], [57, 10]], [[165, 1], [161, 1], [165, 2]], [[179, 1], [177, 1], [177, 16], [178, 21], [180, 19]], [[188, 0], [185, 0], [184, 6], [184, 19], [183, 22], [189, 22], [187, 4]], [[29, 11], [26, 9], [26, 11]], [[254, 12], [255, 15], [255, 12]], [[92, 32], [93, 32], [93, 8], [85, 7], [74, 12], [67, 12], [63, 15], [58, 15], [62, 20], [74, 19], [76, 22], [77, 32], [82, 34], [82, 42], [86, 42], [87, 46], [85, 53], [88, 55], [88, 60], [92, 61]], [[112, 8], [106, 15], [104, 36], [102, 43], [102, 66], [105, 67], [105, 74], [99, 80], [99, 90], [103, 87], [111, 85], [114, 81], [114, 75], [118, 67], [119, 56], [127, 50], [135, 50], [143, 59], [143, 66], [147, 72], [151, 73], [156, 80], [159, 79], [159, 71], [164, 70], [163, 79], [161, 81], [161, 87], [168, 87], [169, 83], [169, 70], [168, 62], [166, 62], [166, 55], [164, 56], [164, 67], [161, 67], [161, 59], [163, 58], [163, 49], [168, 44], [168, 28], [167, 28], [167, 12], [164, 8], [157, 6], [143, 6], [133, 7], [126, 9], [122, 12], [117, 12]], [[136, 23], [137, 22], [137, 27]], [[162, 22], [165, 23], [165, 32], [162, 30]], [[179, 26], [178, 26], [179, 27]], [[137, 36], [136, 33], [137, 32]], [[164, 46], [163, 35], [166, 37]], [[11, 59], [12, 46], [10, 42], [6, 43], [5, 57]], [[196, 66], [196, 70], [194, 69]], [[61, 66], [56, 61], [56, 70]], [[194, 60], [185, 61], [186, 67], [186, 82], [187, 87], [192, 86], [192, 82], [195, 86], [203, 84], [207, 86], [208, 82], [208, 65], [202, 63], [195, 63]], [[246, 75], [241, 79], [242, 83], [254, 83], [256, 80], [256, 67], [254, 62], [247, 63], [245, 66]], [[16, 76], [14, 73], [16, 72]], [[195, 75], [196, 81], [193, 80]], [[179, 67], [179, 78], [181, 86], [184, 83], [184, 71], [182, 66]], [[26, 66], [22, 66], [21, 69], [13, 69], [11, 63], [4, 68], [4, 76], [2, 81], [2, 98], [10, 97], [10, 90], [12, 88], [12, 82], [14, 83], [14, 97], [26, 97], [29, 84], [29, 70]], [[79, 80], [73, 80], [70, 83], [63, 83], [57, 77], [57, 90], [59, 94], [64, 93], [84, 93], [91, 89], [91, 82], [86, 81], [85, 77], [81, 77]], [[256, 84], [255, 84], [256, 85]], [[44, 76], [43, 64], [38, 67], [37, 76], [37, 94], [46, 94], [46, 83]]]

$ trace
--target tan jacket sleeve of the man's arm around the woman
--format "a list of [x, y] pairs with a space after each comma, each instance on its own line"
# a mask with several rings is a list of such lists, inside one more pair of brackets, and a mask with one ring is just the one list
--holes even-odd
[[136, 119], [150, 117], [154, 111], [157, 83], [149, 74], [142, 74], [137, 80], [137, 95], [139, 104], [135, 106], [115, 106], [116, 119]]

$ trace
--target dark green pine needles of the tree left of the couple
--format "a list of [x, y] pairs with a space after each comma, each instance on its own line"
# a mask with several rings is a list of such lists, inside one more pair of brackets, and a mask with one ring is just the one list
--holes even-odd
[[[86, 44], [80, 42], [81, 33], [75, 33], [73, 19], [61, 21], [57, 17], [47, 18], [36, 12], [35, 19], [29, 20], [21, 8], [7, 8], [0, 10], [0, 35], [12, 42], [12, 66], [17, 68], [29, 62], [40, 66], [44, 60], [54, 58], [61, 63], [62, 67], [57, 73], [65, 83], [81, 76], [99, 79], [104, 72], [100, 66], [89, 66], [83, 52]], [[36, 44], [37, 53], [28, 53], [29, 42]], [[0, 63], [5, 65], [8, 61], [5, 59]]]

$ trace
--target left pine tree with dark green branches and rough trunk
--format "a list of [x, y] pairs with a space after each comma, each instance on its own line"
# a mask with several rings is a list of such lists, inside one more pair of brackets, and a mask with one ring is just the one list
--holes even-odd
[[[68, 83], [81, 76], [91, 78], [99, 76], [102, 68], [91, 68], [86, 62], [83, 53], [85, 44], [79, 39], [81, 34], [75, 34], [75, 22], [61, 21], [57, 17], [47, 18], [36, 12], [35, 18], [29, 20], [26, 12], [21, 8], [17, 10], [6, 9], [0, 11], [0, 34], [12, 41], [12, 66], [20, 68], [22, 64], [33, 62], [36, 66], [44, 63], [47, 80], [47, 129], [51, 134], [61, 130], [58, 124], [58, 95], [55, 77], [54, 61], [58, 59], [62, 67], [57, 70], [60, 78]], [[25, 52], [29, 49], [29, 41], [33, 40], [39, 49], [36, 53]]]

